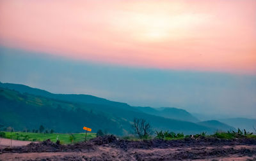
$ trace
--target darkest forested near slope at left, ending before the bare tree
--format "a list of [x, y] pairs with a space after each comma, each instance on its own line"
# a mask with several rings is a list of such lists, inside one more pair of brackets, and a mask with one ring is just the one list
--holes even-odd
[[24, 95], [3, 88], [0, 88], [0, 104], [0, 124], [15, 130], [38, 129], [44, 125], [48, 130], [54, 129], [56, 132], [84, 132], [81, 127], [86, 125], [93, 132], [108, 129], [121, 135], [122, 126], [129, 126], [128, 122], [88, 111], [79, 104]]

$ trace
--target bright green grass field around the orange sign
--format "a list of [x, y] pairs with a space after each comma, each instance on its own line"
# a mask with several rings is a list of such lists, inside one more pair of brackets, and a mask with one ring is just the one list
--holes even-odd
[[[70, 144], [70, 134], [44, 134], [44, 133], [33, 133], [33, 132], [4, 132], [5, 138], [15, 139], [21, 141], [45, 141], [51, 139], [52, 142], [57, 141], [57, 137], [61, 144]], [[75, 133], [72, 134], [74, 141], [72, 143], [77, 143], [79, 141], [84, 141], [85, 133]], [[87, 140], [96, 137], [95, 133], [87, 133]]]

